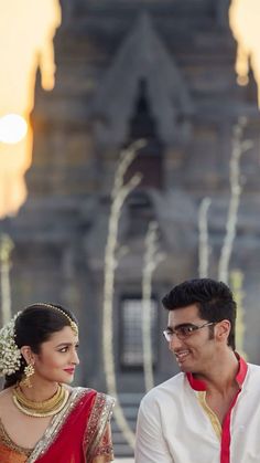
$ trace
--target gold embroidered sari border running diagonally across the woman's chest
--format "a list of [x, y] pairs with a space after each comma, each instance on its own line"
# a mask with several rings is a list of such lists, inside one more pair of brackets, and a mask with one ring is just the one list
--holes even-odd
[[79, 388], [79, 387], [73, 389], [66, 406], [64, 407], [64, 409], [59, 413], [54, 415], [54, 418], [53, 418], [52, 422], [50, 423], [50, 425], [47, 427], [44, 435], [37, 442], [37, 444], [35, 445], [32, 454], [29, 456], [28, 463], [34, 463], [53, 444], [53, 442], [58, 436], [58, 432], [61, 431], [65, 420], [68, 417], [68, 414], [72, 412], [74, 407], [78, 403], [78, 401], [86, 393], [87, 390], [91, 390], [91, 389]]

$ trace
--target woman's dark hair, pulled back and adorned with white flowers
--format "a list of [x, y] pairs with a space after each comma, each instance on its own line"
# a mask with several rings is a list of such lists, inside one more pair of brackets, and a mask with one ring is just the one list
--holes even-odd
[[[77, 324], [75, 315], [61, 305], [51, 303], [30, 305], [15, 319], [15, 344], [19, 348], [30, 346], [34, 354], [40, 354], [41, 345], [48, 340], [53, 333], [71, 326], [69, 319]], [[6, 376], [4, 389], [22, 379], [25, 366], [26, 362], [22, 357], [20, 370]]]

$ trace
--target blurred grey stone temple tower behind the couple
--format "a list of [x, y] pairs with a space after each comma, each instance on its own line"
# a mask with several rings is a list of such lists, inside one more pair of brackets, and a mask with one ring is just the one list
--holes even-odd
[[[218, 278], [230, 208], [231, 154], [251, 140], [238, 176], [229, 275], [241, 276], [243, 350], [260, 361], [260, 146], [253, 80], [236, 82], [228, 0], [63, 0], [55, 36], [56, 85], [35, 87], [28, 200], [2, 228], [12, 236], [13, 311], [36, 301], [75, 311], [80, 324], [77, 381], [106, 390], [102, 341], [105, 250], [120, 154], [144, 140], [124, 175], [140, 183], [120, 210], [112, 326], [117, 389], [130, 425], [144, 392], [142, 288], [151, 255], [154, 381], [176, 371], [162, 339], [162, 296], [198, 276], [199, 210], [207, 213], [208, 276]], [[239, 135], [240, 130], [240, 135]], [[239, 141], [240, 140], [240, 141]], [[236, 151], [237, 152], [237, 151]], [[236, 204], [235, 204], [236, 206]], [[202, 220], [202, 219], [201, 219]], [[120, 255], [119, 255], [120, 254]], [[151, 281], [150, 280], [150, 281]], [[130, 404], [129, 404], [130, 403]], [[121, 442], [121, 443], [120, 443]], [[123, 440], [118, 453], [131, 454]]]

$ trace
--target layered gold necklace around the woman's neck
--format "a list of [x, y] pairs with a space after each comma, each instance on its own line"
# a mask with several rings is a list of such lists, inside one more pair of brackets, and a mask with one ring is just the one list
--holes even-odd
[[64, 386], [58, 385], [58, 388], [53, 397], [41, 402], [28, 399], [20, 386], [13, 388], [13, 403], [15, 407], [29, 417], [44, 418], [52, 417], [58, 413], [68, 399], [68, 390]]

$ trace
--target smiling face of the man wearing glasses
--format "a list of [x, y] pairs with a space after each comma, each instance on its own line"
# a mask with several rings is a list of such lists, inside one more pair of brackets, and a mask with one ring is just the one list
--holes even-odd
[[[187, 307], [169, 312], [167, 332], [171, 333], [181, 327], [206, 325], [208, 320], [202, 319], [195, 304]], [[217, 343], [214, 334], [214, 325], [204, 326], [181, 336], [173, 334], [169, 341], [170, 350], [175, 355], [176, 361], [184, 372], [204, 373], [210, 370], [217, 355]], [[184, 330], [185, 334], [185, 330]]]

